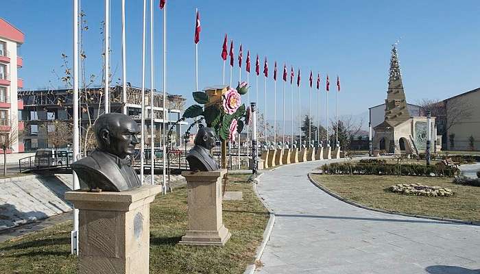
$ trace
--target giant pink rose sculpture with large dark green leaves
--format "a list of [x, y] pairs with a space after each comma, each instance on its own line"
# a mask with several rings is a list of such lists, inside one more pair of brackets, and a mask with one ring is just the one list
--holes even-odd
[[196, 119], [203, 116], [206, 126], [215, 129], [221, 140], [235, 140], [243, 126], [249, 123], [245, 105], [241, 103], [241, 95], [247, 92], [248, 85], [245, 82], [239, 83], [237, 88], [222, 90], [221, 100], [209, 97], [207, 92], [193, 92], [193, 99], [198, 104], [187, 108], [183, 118]]

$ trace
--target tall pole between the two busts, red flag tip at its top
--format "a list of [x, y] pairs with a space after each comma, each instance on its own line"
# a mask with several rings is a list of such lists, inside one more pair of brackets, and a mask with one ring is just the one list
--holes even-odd
[[167, 162], [167, 2], [163, 6], [163, 184], [162, 184], [162, 193], [167, 194], [167, 168], [165, 163]]

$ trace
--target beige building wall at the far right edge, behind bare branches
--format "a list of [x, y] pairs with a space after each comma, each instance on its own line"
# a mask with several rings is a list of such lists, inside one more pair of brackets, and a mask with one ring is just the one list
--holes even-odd
[[[446, 134], [446, 144], [448, 150], [462, 150], [469, 151], [470, 141], [472, 136], [475, 140], [473, 142], [473, 150], [480, 151], [480, 90], [468, 92], [458, 97], [453, 97], [446, 100], [447, 119], [452, 119], [451, 116], [459, 117], [458, 123], [452, 125]], [[455, 110], [461, 108], [470, 112], [470, 116], [458, 115], [459, 111]], [[451, 121], [447, 121], [451, 123]], [[453, 138], [453, 145], [451, 143], [451, 134], [455, 134]]]

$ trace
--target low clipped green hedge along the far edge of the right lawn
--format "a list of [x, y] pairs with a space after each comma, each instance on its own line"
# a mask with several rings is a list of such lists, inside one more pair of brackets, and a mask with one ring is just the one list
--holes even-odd
[[[322, 166], [324, 173], [355, 175], [409, 175], [455, 177], [459, 169], [453, 166], [422, 164], [386, 164], [382, 162], [333, 163]], [[401, 171], [401, 173], [400, 173]]]

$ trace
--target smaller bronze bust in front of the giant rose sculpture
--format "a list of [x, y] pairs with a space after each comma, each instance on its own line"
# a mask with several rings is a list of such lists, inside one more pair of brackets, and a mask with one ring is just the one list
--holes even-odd
[[197, 136], [195, 136], [195, 147], [193, 147], [187, 161], [189, 161], [190, 171], [216, 171], [219, 166], [210, 150], [215, 147], [217, 136], [210, 127], [202, 127], [198, 129]]

